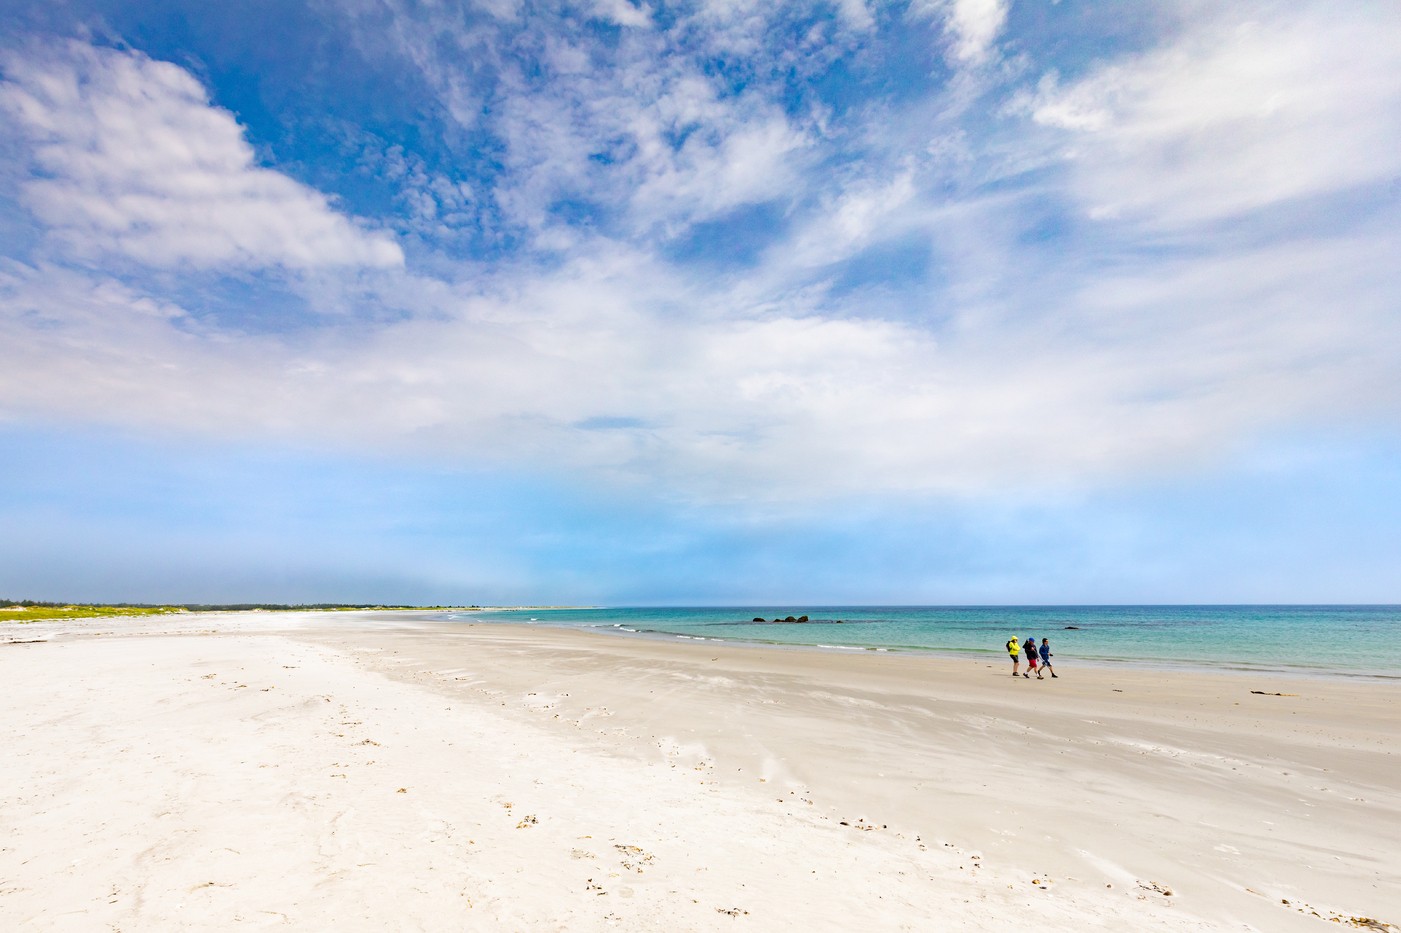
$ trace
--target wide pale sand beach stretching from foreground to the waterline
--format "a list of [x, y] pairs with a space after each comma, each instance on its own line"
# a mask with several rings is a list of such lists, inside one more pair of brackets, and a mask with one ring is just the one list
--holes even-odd
[[1401, 684], [1056, 670], [4, 625], [0, 929], [1401, 929]]

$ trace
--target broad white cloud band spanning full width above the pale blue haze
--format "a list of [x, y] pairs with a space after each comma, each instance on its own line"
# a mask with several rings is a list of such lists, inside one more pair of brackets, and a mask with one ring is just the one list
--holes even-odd
[[1401, 420], [1397, 248], [1358, 237], [1126, 269], [941, 335], [734, 307], [626, 251], [485, 289], [387, 282], [371, 301], [417, 317], [294, 339], [15, 266], [0, 276], [0, 399], [11, 416], [389, 444], [699, 500], [1077, 486], [1300, 424]]

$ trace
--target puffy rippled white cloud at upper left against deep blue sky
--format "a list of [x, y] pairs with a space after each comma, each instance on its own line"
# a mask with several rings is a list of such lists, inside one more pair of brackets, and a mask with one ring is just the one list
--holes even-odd
[[84, 256], [153, 266], [398, 266], [399, 247], [262, 168], [188, 71], [78, 42], [11, 53], [0, 113], [32, 144], [24, 203]]

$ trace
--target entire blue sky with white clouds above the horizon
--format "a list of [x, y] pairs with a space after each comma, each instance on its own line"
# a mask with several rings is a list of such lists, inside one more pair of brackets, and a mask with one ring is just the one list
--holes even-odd
[[1401, 602], [1401, 6], [4, 0], [0, 597]]

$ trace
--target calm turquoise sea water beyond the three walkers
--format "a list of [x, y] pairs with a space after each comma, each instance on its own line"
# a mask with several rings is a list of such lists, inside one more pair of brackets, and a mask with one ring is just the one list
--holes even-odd
[[[807, 615], [799, 625], [755, 623]], [[1401, 607], [736, 607], [524, 609], [448, 621], [605, 629], [831, 650], [933, 651], [1005, 658], [1009, 636], [1049, 637], [1054, 661], [1153, 663], [1261, 671], [1401, 677]]]

